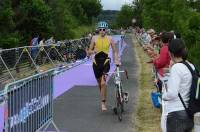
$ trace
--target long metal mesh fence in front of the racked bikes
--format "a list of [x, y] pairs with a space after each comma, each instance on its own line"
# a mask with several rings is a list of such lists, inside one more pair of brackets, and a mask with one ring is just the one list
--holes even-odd
[[24, 46], [0, 50], [0, 90], [5, 84], [80, 59], [89, 47], [89, 38], [64, 40], [59, 44]]

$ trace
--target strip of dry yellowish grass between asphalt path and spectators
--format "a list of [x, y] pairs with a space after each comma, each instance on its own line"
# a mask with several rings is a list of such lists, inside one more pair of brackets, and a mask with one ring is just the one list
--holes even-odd
[[133, 36], [134, 49], [139, 63], [139, 96], [136, 107], [135, 130], [136, 132], [161, 132], [160, 109], [153, 107], [150, 94], [155, 91], [152, 79], [152, 65], [146, 63], [149, 57]]

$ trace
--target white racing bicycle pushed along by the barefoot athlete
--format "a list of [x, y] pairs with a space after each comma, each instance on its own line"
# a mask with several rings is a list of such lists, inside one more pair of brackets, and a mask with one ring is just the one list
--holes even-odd
[[114, 83], [116, 86], [116, 107], [113, 108], [113, 112], [118, 115], [118, 119], [122, 121], [122, 113], [124, 112], [124, 103], [128, 103], [128, 93], [123, 91], [122, 81], [120, 73], [125, 73], [128, 79], [128, 74], [126, 70], [120, 71], [119, 65], [116, 65], [116, 71], [114, 73]]

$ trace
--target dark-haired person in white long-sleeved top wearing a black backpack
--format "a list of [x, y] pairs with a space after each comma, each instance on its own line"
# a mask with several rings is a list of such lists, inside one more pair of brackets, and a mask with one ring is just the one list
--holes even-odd
[[[167, 132], [190, 132], [193, 128], [193, 121], [188, 117], [178, 97], [178, 93], [180, 93], [185, 104], [188, 105], [192, 75], [189, 69], [181, 63], [182, 61], [187, 61], [187, 50], [184, 41], [181, 39], [171, 40], [169, 52], [174, 64], [170, 70], [168, 87], [163, 93], [163, 100], [168, 113]], [[191, 63], [189, 64], [194, 69], [194, 66]]]

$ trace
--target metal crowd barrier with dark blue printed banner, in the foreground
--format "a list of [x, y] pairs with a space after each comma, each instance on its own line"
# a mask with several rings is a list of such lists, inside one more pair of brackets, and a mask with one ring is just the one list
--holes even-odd
[[3, 94], [5, 132], [46, 131], [53, 121], [53, 70], [7, 84]]

